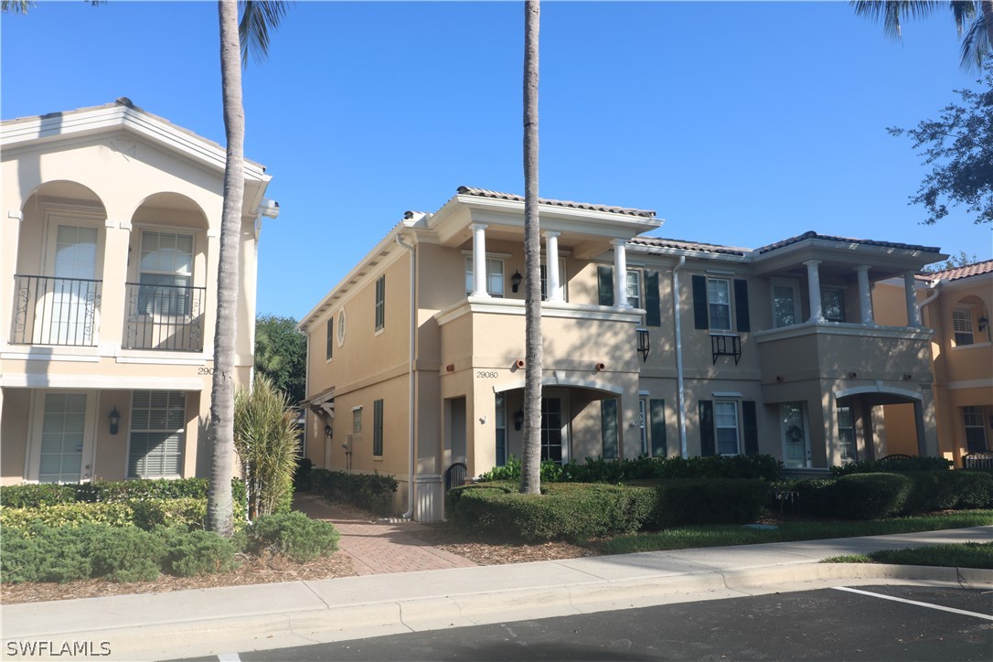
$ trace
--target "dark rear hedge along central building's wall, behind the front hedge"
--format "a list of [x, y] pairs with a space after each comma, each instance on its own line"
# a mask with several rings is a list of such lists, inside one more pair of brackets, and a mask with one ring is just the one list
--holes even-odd
[[[769, 455], [708, 456], [705, 458], [649, 458], [604, 460], [587, 458], [582, 464], [541, 463], [542, 482], [609, 482], [666, 478], [755, 478], [777, 480], [782, 463]], [[511, 456], [504, 466], [484, 473], [482, 480], [520, 480], [520, 460]]]

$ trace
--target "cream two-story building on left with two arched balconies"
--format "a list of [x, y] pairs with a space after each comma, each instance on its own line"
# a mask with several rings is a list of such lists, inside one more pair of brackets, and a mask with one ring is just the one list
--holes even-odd
[[[0, 479], [208, 475], [224, 149], [134, 106], [2, 124]], [[245, 162], [237, 382], [270, 177]]]

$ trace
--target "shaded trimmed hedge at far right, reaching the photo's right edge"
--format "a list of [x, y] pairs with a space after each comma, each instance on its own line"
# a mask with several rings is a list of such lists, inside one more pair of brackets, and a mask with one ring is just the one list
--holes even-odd
[[852, 473], [792, 488], [795, 510], [845, 519], [993, 506], [993, 475], [968, 469]]

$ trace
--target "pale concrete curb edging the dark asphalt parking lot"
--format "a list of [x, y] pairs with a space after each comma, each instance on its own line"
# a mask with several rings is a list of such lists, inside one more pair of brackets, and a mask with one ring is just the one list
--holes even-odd
[[[176, 619], [137, 627], [107, 623], [84, 631], [18, 632], [13, 636], [8, 630], [3, 637], [3, 657], [17, 659], [9, 655], [8, 642], [23, 640], [48, 640], [56, 646], [63, 641], [105, 641], [112, 651], [102, 658], [77, 655], [73, 659], [144, 660], [216, 655], [246, 648], [280, 648], [673, 602], [808, 591], [838, 582], [871, 584], [881, 581], [989, 590], [993, 589], [993, 571], [808, 563], [357, 604], [325, 602], [324, 607], [317, 608], [187, 621]], [[95, 650], [100, 650], [98, 643]]]

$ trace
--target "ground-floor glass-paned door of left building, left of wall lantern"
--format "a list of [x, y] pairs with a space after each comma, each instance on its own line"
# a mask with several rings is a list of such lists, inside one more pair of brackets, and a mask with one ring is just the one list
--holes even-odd
[[39, 392], [35, 400], [32, 466], [39, 482], [88, 480], [96, 395]]

